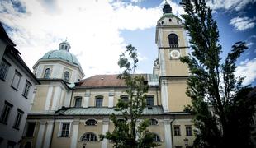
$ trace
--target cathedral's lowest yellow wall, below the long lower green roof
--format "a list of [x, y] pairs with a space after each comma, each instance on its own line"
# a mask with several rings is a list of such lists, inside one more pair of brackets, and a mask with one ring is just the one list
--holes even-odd
[[[92, 132], [97, 136], [97, 140], [98, 141], [87, 141], [86, 142], [86, 147], [104, 147], [102, 146], [103, 141], [100, 141], [99, 139], [99, 135], [103, 133], [103, 121], [105, 121], [105, 118], [108, 118], [107, 116], [79, 116], [79, 117], [56, 117], [59, 119], [56, 119], [55, 121], [55, 126], [54, 126], [54, 131], [53, 133], [49, 132], [47, 133], [47, 125], [48, 125], [48, 121], [52, 122], [52, 119], [40, 119], [40, 120], [36, 120], [36, 130], [34, 133], [34, 138], [28, 138], [25, 137], [22, 141], [22, 144], [24, 145], [26, 143], [26, 141], [31, 141], [33, 146], [36, 146], [36, 142], [38, 141], [37, 136], [39, 136], [39, 131], [40, 131], [40, 124], [41, 123], [45, 123], [45, 129], [43, 131], [43, 138], [40, 139], [41, 141], [41, 147], [45, 147], [45, 138], [46, 135], [50, 135], [50, 137], [52, 137], [51, 140], [51, 147], [72, 147], [72, 141], [73, 141], [73, 136], [76, 137], [76, 139], [74, 141], [76, 141], [76, 146], [78, 148], [83, 148], [83, 141], [81, 141], [83, 134], [87, 133], [87, 132]], [[61, 119], [63, 118], [63, 119]], [[65, 119], [66, 118], [66, 119]], [[69, 119], [67, 119], [69, 118]], [[85, 122], [88, 119], [96, 119], [97, 120], [97, 125], [95, 126], [88, 126], [85, 125]], [[171, 147], [173, 146], [183, 146], [185, 147], [184, 144], [184, 139], [187, 138], [188, 140], [188, 146], [192, 146], [192, 141], [194, 140], [194, 136], [186, 136], [186, 126], [192, 126], [192, 130], [193, 130], [193, 125], [192, 125], [192, 121], [191, 121], [191, 116], [186, 116], [186, 115], [178, 115], [177, 117], [173, 118], [173, 117], [168, 117], [168, 116], [159, 116], [159, 115], [152, 115], [152, 116], [144, 116], [143, 118], [154, 118], [158, 121], [157, 125], [150, 125], [148, 127], [149, 132], [153, 132], [155, 134], [157, 134], [160, 138], [160, 146], [159, 148], [164, 148], [164, 147]], [[78, 132], [77, 135], [73, 135], [73, 126], [74, 121], [77, 120], [78, 121]], [[170, 131], [168, 131], [168, 129], [166, 129], [166, 120], [168, 120], [168, 127], [170, 128]], [[28, 121], [35, 121], [35, 120], [31, 120], [29, 119]], [[69, 127], [69, 137], [59, 137], [59, 132], [61, 130], [61, 128], [59, 127], [60, 123], [71, 123], [71, 126]], [[112, 132], [114, 130], [114, 124], [111, 122], [111, 120], [109, 122], [107, 122], [108, 128], [107, 131]], [[174, 132], [173, 132], [173, 128], [174, 126], [180, 126], [180, 132], [181, 132], [181, 136], [174, 136]], [[166, 136], [166, 132], [173, 132], [173, 138], [171, 136]], [[51, 134], [53, 134], [51, 136]], [[167, 143], [169, 143], [170, 145], [168, 145]], [[107, 141], [107, 147], [112, 147], [113, 143]]]

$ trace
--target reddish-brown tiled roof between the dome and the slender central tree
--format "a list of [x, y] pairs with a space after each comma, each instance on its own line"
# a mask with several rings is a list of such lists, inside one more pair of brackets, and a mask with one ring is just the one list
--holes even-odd
[[126, 86], [125, 81], [117, 78], [118, 75], [95, 75], [80, 82], [78, 87], [108, 87]]

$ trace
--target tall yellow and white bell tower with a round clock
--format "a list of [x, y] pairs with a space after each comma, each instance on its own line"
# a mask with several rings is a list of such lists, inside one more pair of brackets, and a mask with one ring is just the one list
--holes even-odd
[[187, 56], [187, 36], [182, 20], [173, 14], [168, 2], [164, 4], [163, 16], [157, 21], [155, 43], [159, 55], [154, 62], [154, 73], [159, 75], [164, 112], [183, 112], [184, 105], [191, 104], [185, 93], [187, 64], [180, 61], [181, 57]]

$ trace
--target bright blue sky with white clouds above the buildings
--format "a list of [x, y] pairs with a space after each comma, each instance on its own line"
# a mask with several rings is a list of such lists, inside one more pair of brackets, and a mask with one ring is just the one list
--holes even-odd
[[[173, 14], [184, 13], [179, 0], [168, 0]], [[119, 73], [117, 61], [126, 45], [138, 49], [137, 73], [152, 73], [158, 49], [156, 22], [163, 0], [0, 0], [0, 21], [21, 58], [31, 68], [67, 39], [85, 77]], [[256, 86], [256, 0], [208, 0], [220, 31], [225, 59], [232, 44], [249, 46], [237, 61], [236, 76]]]

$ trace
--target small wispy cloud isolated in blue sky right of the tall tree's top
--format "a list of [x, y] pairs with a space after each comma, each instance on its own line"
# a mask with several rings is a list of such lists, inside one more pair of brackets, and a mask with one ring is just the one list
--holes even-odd
[[235, 27], [235, 30], [248, 30], [251, 28], [254, 28], [255, 26], [255, 17], [249, 18], [249, 17], [235, 17], [230, 20], [230, 25], [233, 25]]

